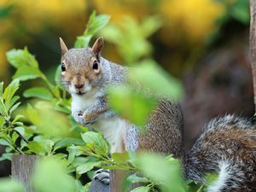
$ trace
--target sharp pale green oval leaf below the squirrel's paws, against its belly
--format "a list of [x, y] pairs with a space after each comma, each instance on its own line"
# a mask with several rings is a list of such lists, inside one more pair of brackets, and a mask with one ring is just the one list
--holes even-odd
[[108, 155], [109, 147], [106, 140], [102, 137], [102, 134], [97, 132], [88, 131], [82, 134], [82, 139], [90, 149], [96, 152], [96, 154]]

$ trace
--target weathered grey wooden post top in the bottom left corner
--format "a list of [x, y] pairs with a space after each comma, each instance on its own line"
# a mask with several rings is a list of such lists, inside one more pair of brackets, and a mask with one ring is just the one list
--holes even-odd
[[19, 154], [12, 157], [12, 177], [20, 181], [28, 192], [32, 188], [32, 173], [38, 157], [36, 155]]

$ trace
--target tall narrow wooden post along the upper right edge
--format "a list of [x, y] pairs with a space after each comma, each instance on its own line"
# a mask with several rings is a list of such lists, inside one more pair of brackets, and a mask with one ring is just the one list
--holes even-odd
[[250, 0], [250, 61], [253, 71], [254, 108], [256, 111], [256, 0]]

